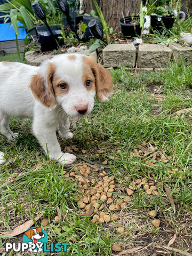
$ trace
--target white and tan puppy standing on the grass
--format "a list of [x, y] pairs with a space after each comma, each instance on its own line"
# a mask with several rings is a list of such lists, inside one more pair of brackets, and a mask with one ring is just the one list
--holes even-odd
[[[108, 71], [91, 57], [55, 55], [40, 67], [0, 62], [0, 132], [12, 140], [10, 117], [33, 119], [33, 133], [50, 159], [71, 164], [76, 156], [62, 153], [57, 140], [72, 138], [69, 116], [84, 116], [93, 109], [94, 96], [108, 100], [113, 82]], [[0, 152], [0, 164], [5, 162]]]

